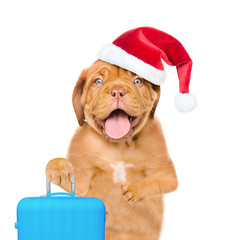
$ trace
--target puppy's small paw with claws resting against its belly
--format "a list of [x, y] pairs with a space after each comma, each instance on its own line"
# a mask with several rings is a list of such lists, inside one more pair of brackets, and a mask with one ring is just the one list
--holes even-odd
[[130, 205], [133, 205], [134, 203], [136, 203], [141, 199], [138, 186], [134, 184], [121, 186], [121, 191], [122, 191], [123, 198]]

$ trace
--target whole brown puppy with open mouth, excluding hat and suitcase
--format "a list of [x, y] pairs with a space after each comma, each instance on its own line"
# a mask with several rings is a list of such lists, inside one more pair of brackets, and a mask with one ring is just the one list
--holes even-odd
[[174, 165], [154, 112], [160, 87], [96, 61], [79, 77], [73, 106], [79, 127], [66, 159], [51, 160], [46, 176], [65, 190], [98, 197], [109, 213], [106, 240], [157, 240], [164, 193], [177, 188]]

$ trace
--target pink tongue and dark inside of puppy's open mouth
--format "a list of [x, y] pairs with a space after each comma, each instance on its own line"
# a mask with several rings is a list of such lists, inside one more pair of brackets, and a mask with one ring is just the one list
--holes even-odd
[[105, 133], [113, 139], [124, 137], [130, 131], [130, 128], [128, 115], [121, 110], [111, 113], [104, 124]]

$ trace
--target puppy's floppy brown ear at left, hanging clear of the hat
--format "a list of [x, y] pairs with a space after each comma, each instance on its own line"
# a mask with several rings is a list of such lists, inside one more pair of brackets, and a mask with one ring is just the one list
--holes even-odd
[[80, 126], [84, 124], [84, 120], [85, 120], [84, 109], [81, 104], [81, 96], [83, 93], [83, 86], [85, 84], [86, 77], [87, 77], [87, 70], [84, 69], [80, 77], [78, 78], [78, 81], [73, 90], [73, 108]]

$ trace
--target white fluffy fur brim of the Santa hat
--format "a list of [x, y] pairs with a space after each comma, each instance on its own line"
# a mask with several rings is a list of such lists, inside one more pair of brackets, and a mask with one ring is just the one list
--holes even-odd
[[145, 63], [113, 43], [104, 45], [97, 56], [105, 62], [117, 65], [139, 75], [154, 85], [161, 85], [166, 78], [165, 71]]

